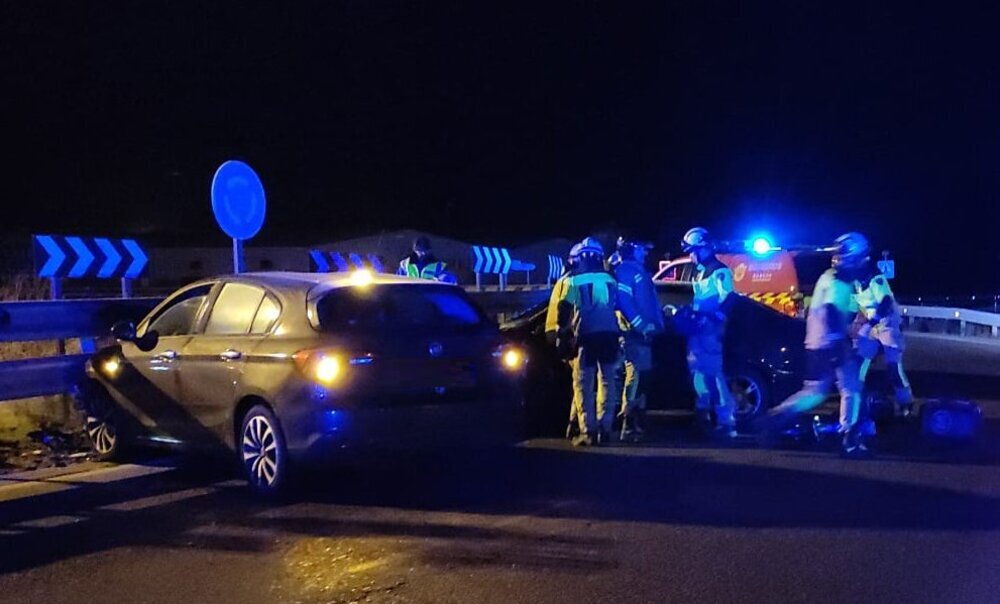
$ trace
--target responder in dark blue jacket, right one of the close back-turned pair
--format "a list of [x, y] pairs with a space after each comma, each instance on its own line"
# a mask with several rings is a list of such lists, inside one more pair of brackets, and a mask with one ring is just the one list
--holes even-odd
[[618, 239], [617, 262], [613, 263], [618, 282], [618, 312], [625, 348], [625, 376], [621, 396], [622, 440], [638, 440], [643, 432], [646, 395], [642, 391], [653, 368], [652, 337], [663, 331], [663, 310], [656, 297], [653, 277], [646, 271], [650, 247], [624, 238]]

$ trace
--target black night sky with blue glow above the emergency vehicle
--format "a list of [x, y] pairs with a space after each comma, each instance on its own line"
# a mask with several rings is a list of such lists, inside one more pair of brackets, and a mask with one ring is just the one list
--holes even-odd
[[256, 243], [857, 229], [1000, 291], [996, 9], [752, 4], [2, 0], [0, 232], [225, 245], [239, 158]]

